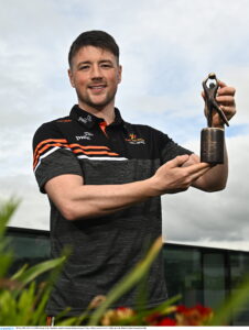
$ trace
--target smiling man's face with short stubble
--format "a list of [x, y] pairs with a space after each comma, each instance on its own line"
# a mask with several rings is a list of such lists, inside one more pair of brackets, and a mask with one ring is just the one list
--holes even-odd
[[94, 46], [82, 47], [72, 59], [68, 75], [84, 110], [113, 107], [121, 66], [112, 53]]

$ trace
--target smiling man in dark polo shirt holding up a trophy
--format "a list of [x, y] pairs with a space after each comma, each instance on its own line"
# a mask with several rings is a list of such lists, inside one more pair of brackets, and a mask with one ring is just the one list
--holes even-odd
[[[122, 119], [115, 108], [122, 68], [112, 36], [82, 33], [68, 61], [78, 105], [68, 117], [43, 124], [33, 141], [35, 176], [51, 202], [52, 255], [73, 248], [47, 306], [51, 316], [68, 306], [69, 315], [79, 315], [133, 267], [145, 244], [161, 234], [162, 195], [190, 186], [224, 189], [228, 172], [227, 158], [210, 167], [166, 134]], [[221, 81], [219, 87], [217, 101], [229, 120], [235, 89]], [[213, 122], [223, 127], [217, 113]], [[148, 308], [166, 298], [161, 257], [151, 268], [148, 290]], [[133, 307], [134, 301], [131, 290], [116, 306]]]

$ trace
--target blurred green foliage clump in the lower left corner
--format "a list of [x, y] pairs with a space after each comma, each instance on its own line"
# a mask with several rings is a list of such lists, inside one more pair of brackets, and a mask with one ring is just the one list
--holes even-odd
[[[0, 205], [0, 324], [45, 326], [45, 305], [66, 257], [46, 261], [30, 268], [23, 265], [14, 275], [7, 277], [14, 257], [4, 233], [19, 204], [20, 200], [12, 198]], [[45, 272], [50, 272], [47, 280], [37, 284], [35, 279]]]

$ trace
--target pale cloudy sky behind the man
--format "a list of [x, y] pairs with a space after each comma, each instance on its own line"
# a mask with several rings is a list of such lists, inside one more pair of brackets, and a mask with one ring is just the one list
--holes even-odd
[[162, 198], [167, 242], [249, 251], [249, 0], [0, 0], [0, 199], [21, 198], [11, 226], [50, 228], [50, 207], [32, 172], [32, 138], [77, 102], [67, 54], [83, 31], [120, 46], [116, 98], [124, 120], [150, 124], [199, 153], [202, 81], [236, 88], [226, 129], [227, 188], [190, 188]]

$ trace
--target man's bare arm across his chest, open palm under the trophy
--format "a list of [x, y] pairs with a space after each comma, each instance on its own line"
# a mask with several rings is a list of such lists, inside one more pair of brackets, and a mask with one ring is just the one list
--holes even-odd
[[84, 185], [82, 176], [65, 174], [50, 179], [45, 190], [67, 220], [104, 217], [153, 196], [186, 190], [210, 168], [206, 163], [182, 167], [188, 158], [188, 155], [177, 156], [162, 165], [152, 177], [140, 182]]

